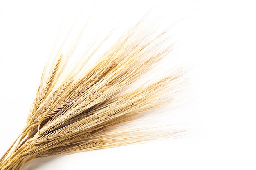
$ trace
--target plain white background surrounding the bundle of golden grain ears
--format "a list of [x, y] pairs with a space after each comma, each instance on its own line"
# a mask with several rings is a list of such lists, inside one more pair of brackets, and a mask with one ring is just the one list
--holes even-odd
[[249, 0], [0, 1], [0, 155], [25, 126], [54, 30], [93, 13], [103, 26], [134, 24], [153, 7], [183, 18], [176, 55], [191, 63], [193, 99], [170, 110], [187, 137], [32, 161], [22, 170], [256, 169], [256, 2]]

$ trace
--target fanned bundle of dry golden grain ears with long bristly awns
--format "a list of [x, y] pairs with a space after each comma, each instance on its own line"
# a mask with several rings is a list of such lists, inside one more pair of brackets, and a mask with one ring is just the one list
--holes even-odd
[[137, 85], [170, 55], [173, 44], [166, 31], [155, 34], [139, 22], [88, 64], [110, 35], [73, 67], [67, 63], [77, 41], [67, 53], [60, 48], [53, 62], [45, 65], [27, 125], [0, 159], [0, 170], [20, 170], [35, 158], [122, 146], [182, 131], [150, 133], [146, 127], [123, 126], [173, 102], [173, 94], [181, 89], [186, 73], [182, 67]]

